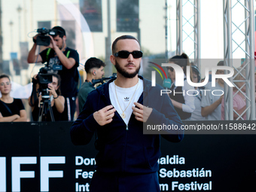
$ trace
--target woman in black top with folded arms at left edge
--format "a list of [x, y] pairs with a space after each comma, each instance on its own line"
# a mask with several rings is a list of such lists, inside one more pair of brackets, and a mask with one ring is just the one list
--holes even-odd
[[23, 102], [10, 96], [11, 81], [8, 75], [0, 75], [0, 92], [0, 122], [26, 121]]

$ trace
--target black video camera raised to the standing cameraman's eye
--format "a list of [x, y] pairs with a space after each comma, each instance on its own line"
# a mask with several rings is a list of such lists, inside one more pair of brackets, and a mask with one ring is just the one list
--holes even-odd
[[40, 35], [38, 35], [36, 38], [36, 44], [43, 45], [43, 46], [48, 46], [50, 44], [50, 37], [48, 35], [51, 35], [51, 36], [56, 35], [56, 30], [54, 29], [41, 28], [41, 29], [37, 29], [37, 32]]

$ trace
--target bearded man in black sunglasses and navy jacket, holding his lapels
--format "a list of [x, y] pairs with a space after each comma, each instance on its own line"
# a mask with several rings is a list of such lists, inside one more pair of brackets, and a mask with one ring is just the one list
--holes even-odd
[[[116, 38], [110, 59], [117, 78], [88, 95], [70, 130], [75, 145], [86, 145], [97, 134], [99, 153], [90, 191], [160, 191], [160, 135], [143, 135], [143, 123], [181, 128], [181, 119], [169, 97], [160, 96], [161, 87], [151, 87], [151, 81], [138, 75], [142, 51], [136, 38]], [[147, 102], [150, 97], [157, 102]], [[163, 137], [170, 142], [180, 142], [184, 136], [181, 129], [169, 133]]]

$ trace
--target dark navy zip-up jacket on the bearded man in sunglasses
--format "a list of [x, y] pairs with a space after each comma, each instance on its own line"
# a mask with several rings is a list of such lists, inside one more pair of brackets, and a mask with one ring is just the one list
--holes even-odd
[[[139, 76], [139, 78], [142, 78]], [[143, 79], [143, 78], [142, 78]], [[112, 80], [113, 81], [113, 80]], [[160, 96], [157, 87], [151, 87], [151, 81], [143, 80], [144, 90], [139, 98], [139, 103], [153, 108], [146, 123], [164, 123], [166, 125], [182, 125], [180, 117], [173, 108], [167, 94]], [[120, 115], [115, 111], [111, 123], [105, 126], [99, 124], [93, 118], [93, 112], [99, 111], [106, 105], [111, 105], [106, 84], [93, 90], [87, 97], [83, 111], [72, 124], [70, 133], [75, 145], [85, 145], [90, 142], [96, 131], [96, 170], [98, 172], [129, 172], [150, 173], [157, 172], [159, 167], [157, 160], [160, 157], [160, 135], [144, 135], [142, 122], [131, 115], [128, 127]], [[128, 128], [128, 130], [126, 129]], [[170, 130], [169, 135], [162, 135], [170, 142], [180, 142], [184, 137], [183, 130]]]

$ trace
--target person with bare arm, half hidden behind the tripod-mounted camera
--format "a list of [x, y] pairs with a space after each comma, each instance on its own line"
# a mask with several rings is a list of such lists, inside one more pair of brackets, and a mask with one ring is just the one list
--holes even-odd
[[[47, 84], [48, 93], [50, 96], [50, 106], [53, 110], [54, 120], [61, 120], [62, 112], [64, 111], [65, 98], [61, 96], [59, 86], [60, 85], [60, 77], [59, 75], [53, 74], [53, 82]], [[37, 75], [33, 78], [33, 91], [32, 95], [29, 96], [29, 105], [32, 108], [32, 117], [34, 121], [38, 121], [38, 114], [40, 109], [40, 102], [42, 99], [40, 85], [38, 84]], [[36, 94], [33, 94], [36, 93]], [[36, 97], [35, 97], [36, 96]], [[46, 121], [50, 121], [50, 112], [48, 111], [46, 116]]]

